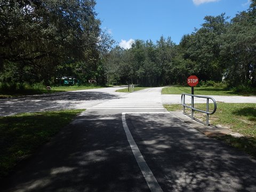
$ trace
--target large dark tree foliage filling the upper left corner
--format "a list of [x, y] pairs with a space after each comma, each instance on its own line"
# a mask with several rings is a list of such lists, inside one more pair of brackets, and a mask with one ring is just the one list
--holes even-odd
[[100, 54], [111, 40], [100, 29], [94, 5], [94, 0], [1, 0], [1, 82], [100, 78]]

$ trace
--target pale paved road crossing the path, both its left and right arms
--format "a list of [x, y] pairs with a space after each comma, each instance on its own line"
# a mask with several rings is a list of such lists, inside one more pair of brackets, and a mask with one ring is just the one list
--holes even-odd
[[[111, 99], [123, 98], [123, 96], [127, 93], [115, 92], [121, 88], [122, 87], [110, 87], [103, 89], [69, 91], [56, 94], [31, 95], [27, 97], [0, 99], [0, 116], [45, 110], [88, 109]], [[147, 91], [150, 91], [150, 89]], [[214, 95], [212, 97], [217, 102], [256, 103], [255, 96], [243, 97]], [[186, 101], [190, 102], [189, 97], [186, 98]], [[162, 102], [163, 104], [180, 103], [179, 94], [158, 95], [158, 99], [159, 102]], [[205, 102], [205, 99], [195, 98], [195, 102]]]

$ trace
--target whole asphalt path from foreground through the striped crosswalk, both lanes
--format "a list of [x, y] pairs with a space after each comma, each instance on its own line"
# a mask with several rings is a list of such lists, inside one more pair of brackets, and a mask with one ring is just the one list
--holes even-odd
[[103, 93], [2, 190], [256, 191], [256, 161], [167, 112], [160, 90]]

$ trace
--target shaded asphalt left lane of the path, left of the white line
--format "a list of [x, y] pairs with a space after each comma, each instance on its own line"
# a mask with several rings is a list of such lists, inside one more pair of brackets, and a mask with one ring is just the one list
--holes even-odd
[[149, 191], [121, 115], [77, 118], [2, 182], [2, 191]]

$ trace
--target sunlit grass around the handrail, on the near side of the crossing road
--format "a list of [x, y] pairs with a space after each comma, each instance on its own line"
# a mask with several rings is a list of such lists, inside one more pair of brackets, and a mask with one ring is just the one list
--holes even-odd
[[[169, 111], [182, 110], [182, 106], [178, 104], [164, 107]], [[203, 103], [195, 103], [195, 107], [206, 109], [206, 105]], [[210, 105], [211, 109], [213, 109], [213, 105]], [[190, 110], [186, 110], [186, 113], [190, 113]], [[206, 121], [205, 114], [197, 111], [195, 117]], [[243, 134], [242, 138], [226, 135], [217, 139], [256, 158], [256, 103], [217, 103], [217, 111], [210, 115], [210, 124], [229, 127], [232, 131]]]

